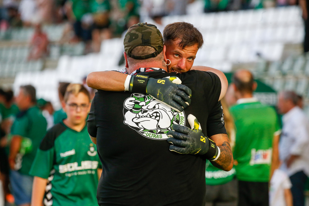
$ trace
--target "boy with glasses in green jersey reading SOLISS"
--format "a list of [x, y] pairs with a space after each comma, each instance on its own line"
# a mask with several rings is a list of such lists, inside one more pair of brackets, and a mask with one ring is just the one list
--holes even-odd
[[[42, 140], [30, 174], [34, 176], [31, 205], [97, 205], [99, 157], [88, 135], [90, 109], [87, 89], [67, 87], [62, 108], [67, 118]], [[47, 187], [46, 187], [47, 186]], [[45, 190], [46, 188], [46, 190]], [[44, 197], [44, 200], [43, 200]]]

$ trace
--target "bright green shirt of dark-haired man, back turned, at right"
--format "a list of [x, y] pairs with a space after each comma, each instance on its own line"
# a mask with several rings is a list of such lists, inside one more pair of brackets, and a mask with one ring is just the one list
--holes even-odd
[[273, 107], [252, 101], [230, 109], [236, 126], [233, 157], [237, 179], [268, 182], [272, 160], [273, 137], [280, 131]]

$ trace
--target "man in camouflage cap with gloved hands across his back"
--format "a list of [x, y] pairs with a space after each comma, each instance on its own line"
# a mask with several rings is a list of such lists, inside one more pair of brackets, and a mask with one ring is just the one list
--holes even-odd
[[[233, 165], [232, 154], [220, 153], [207, 137], [226, 134], [219, 77], [197, 70], [169, 77], [163, 38], [152, 24], [130, 27], [124, 46], [132, 76], [117, 74], [126, 80], [119, 85], [129, 92], [98, 90], [87, 120], [103, 166], [99, 205], [205, 204], [206, 159], [213, 164], [224, 159], [225, 165], [216, 165], [225, 170]], [[180, 80], [188, 87], [176, 84]], [[214, 125], [221, 126], [216, 129], [206, 126], [214, 111]]]

